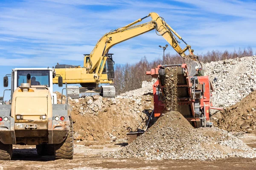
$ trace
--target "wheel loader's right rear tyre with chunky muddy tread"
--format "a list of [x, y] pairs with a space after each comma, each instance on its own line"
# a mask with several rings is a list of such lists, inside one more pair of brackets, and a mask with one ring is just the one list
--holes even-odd
[[55, 144], [55, 159], [73, 159], [73, 146], [73, 122], [70, 118], [70, 130], [66, 139], [60, 144]]

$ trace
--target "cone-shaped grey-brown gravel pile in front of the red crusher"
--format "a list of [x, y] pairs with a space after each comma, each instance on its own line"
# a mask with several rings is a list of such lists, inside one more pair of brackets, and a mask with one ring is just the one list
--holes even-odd
[[207, 160], [253, 158], [256, 152], [225, 130], [210, 127], [194, 129], [179, 112], [171, 111], [122, 150], [103, 156]]

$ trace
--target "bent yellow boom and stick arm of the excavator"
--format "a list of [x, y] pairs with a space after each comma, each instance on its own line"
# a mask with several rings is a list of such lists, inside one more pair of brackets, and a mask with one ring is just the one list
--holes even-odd
[[[148, 23], [143, 23], [140, 25], [135, 25], [141, 22], [143, 19], [151, 17], [152, 20]], [[181, 57], [190, 57], [196, 58], [193, 55], [193, 50], [191, 50], [191, 46], [188, 45], [179, 34], [177, 34], [172, 27], [170, 27], [162, 17], [160, 17], [157, 13], [151, 12], [148, 16], [143, 17], [139, 20], [134, 21], [133, 23], [128, 24], [127, 26], [117, 28], [114, 31], [111, 31], [105, 34], [96, 44], [93, 51], [90, 53], [90, 61], [84, 59], [84, 67], [86, 67], [89, 73], [96, 73], [101, 74], [103, 67], [105, 65], [106, 54], [108, 53], [109, 49], [120, 42], [129, 40], [133, 37], [137, 37], [141, 34], [144, 34], [148, 31], [155, 29], [157, 35], [163, 36], [164, 39], [169, 42], [169, 44], [180, 54]], [[182, 40], [186, 47], [182, 49], [179, 42], [175, 38], [174, 34]], [[189, 50], [189, 56], [185, 54], [185, 51]], [[87, 57], [88, 58], [88, 57]], [[87, 67], [90, 65], [89, 67]], [[96, 69], [96, 70], [95, 70]]]

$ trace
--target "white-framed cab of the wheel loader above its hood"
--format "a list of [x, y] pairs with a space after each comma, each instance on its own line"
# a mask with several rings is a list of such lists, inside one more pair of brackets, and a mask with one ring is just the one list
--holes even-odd
[[[31, 75], [31, 85], [45, 85], [52, 96], [52, 104], [57, 104], [57, 95], [53, 93], [53, 83], [52, 78], [54, 77], [54, 69], [52, 68], [15, 68], [12, 69], [11, 77], [11, 98], [13, 92], [21, 85], [21, 83], [27, 82], [27, 75]], [[6, 77], [5, 77], [6, 79]], [[6, 80], [4, 80], [4, 86]], [[8, 85], [8, 79], [7, 79]]]

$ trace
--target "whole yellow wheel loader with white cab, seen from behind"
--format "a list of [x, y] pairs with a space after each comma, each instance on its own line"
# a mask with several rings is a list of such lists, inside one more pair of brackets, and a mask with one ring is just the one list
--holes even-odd
[[54, 77], [62, 87], [62, 77], [52, 68], [15, 68], [4, 77], [4, 87], [8, 77], [10, 105], [0, 105], [0, 160], [12, 159], [13, 144], [36, 145], [41, 156], [73, 159], [72, 108], [67, 101], [57, 104], [52, 87]]

